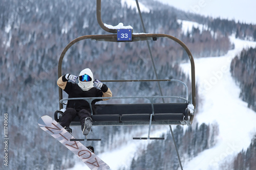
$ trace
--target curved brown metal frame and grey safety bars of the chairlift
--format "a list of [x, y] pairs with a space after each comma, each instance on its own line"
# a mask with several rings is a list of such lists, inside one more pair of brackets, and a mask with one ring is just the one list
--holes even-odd
[[[105, 27], [105, 25], [102, 22], [101, 19], [101, 0], [97, 0], [97, 20], [99, 23], [99, 26], [110, 33], [117, 33], [117, 29], [109, 29], [107, 27]], [[144, 41], [144, 40], [156, 40], [157, 38], [168, 38], [171, 40], [176, 41], [177, 43], [179, 43], [184, 50], [186, 51], [189, 60], [190, 60], [190, 65], [191, 65], [191, 94], [192, 94], [192, 98], [191, 98], [191, 104], [194, 106], [194, 111], [190, 112], [189, 109], [186, 109], [186, 114], [188, 114], [189, 119], [183, 119], [182, 121], [179, 121], [177, 123], [177, 121], [160, 121], [160, 122], [155, 122], [153, 120], [153, 117], [155, 115], [154, 113], [154, 100], [156, 98], [176, 98], [176, 99], [182, 99], [185, 101], [185, 103], [188, 105], [190, 102], [188, 101], [188, 88], [185, 85], [185, 83], [183, 83], [182, 81], [179, 80], [173, 80], [173, 79], [167, 79], [167, 80], [101, 80], [102, 82], [128, 82], [128, 81], [132, 81], [132, 82], [138, 82], [138, 81], [176, 81], [179, 83], [182, 83], [183, 85], [185, 85], [186, 87], [186, 98], [181, 98], [178, 96], [132, 96], [132, 97], [112, 97], [112, 98], [105, 98], [105, 99], [133, 99], [133, 98], [144, 98], [144, 99], [148, 99], [151, 102], [151, 108], [152, 108], [152, 112], [150, 113], [150, 121], [149, 122], [136, 122], [136, 120], [134, 122], [130, 122], [130, 123], [123, 123], [123, 122], [94, 122], [93, 126], [122, 126], [122, 125], [149, 125], [149, 130], [148, 130], [148, 139], [150, 139], [150, 131], [151, 131], [151, 125], [188, 125], [190, 126], [193, 123], [193, 119], [194, 119], [194, 115], [195, 115], [195, 110], [196, 110], [196, 81], [195, 81], [195, 62], [193, 59], [193, 56], [191, 54], [191, 52], [189, 51], [188, 47], [178, 38], [171, 36], [171, 35], [167, 35], [167, 34], [132, 34], [132, 40], [129, 42], [133, 42], [133, 41]], [[109, 41], [109, 42], [119, 42], [117, 41], [117, 34], [109, 34], [109, 35], [84, 35], [81, 37], [78, 37], [74, 40], [72, 40], [62, 51], [60, 58], [59, 58], [59, 62], [58, 62], [58, 77], [62, 76], [62, 61], [63, 58], [66, 54], [66, 52], [69, 50], [69, 48], [74, 45], [75, 43], [77, 43], [78, 41], [81, 40], [85, 40], [85, 39], [91, 39], [91, 40], [98, 40], [98, 41]], [[90, 108], [91, 108], [91, 112], [92, 115], [94, 115], [93, 113], [93, 109], [92, 109], [92, 105], [91, 105], [91, 101], [95, 100], [95, 99], [102, 99], [102, 98], [75, 98], [75, 99], [62, 99], [62, 89], [59, 88], [59, 110], [63, 109], [63, 104], [65, 104], [64, 101], [68, 101], [68, 100], [87, 100], [90, 104]], [[56, 112], [55, 112], [55, 119], [58, 119], [58, 116], [56, 116]], [[74, 124], [74, 125], [78, 125], [78, 124]]]

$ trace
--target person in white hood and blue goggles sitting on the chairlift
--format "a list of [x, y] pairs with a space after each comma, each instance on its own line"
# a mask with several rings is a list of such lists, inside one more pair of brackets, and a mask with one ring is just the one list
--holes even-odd
[[[79, 78], [78, 84], [68, 82], [68, 80], [76, 82], [77, 78]], [[69, 98], [112, 97], [112, 92], [108, 86], [97, 79], [93, 80], [91, 69], [86, 68], [80, 72], [79, 77], [71, 74], [61, 76], [57, 81], [57, 85], [69, 95]], [[94, 87], [94, 84], [96, 87]], [[103, 99], [103, 101], [105, 100], [108, 99]], [[93, 100], [92, 104], [98, 101], [102, 101], [102, 99]], [[76, 115], [80, 118], [83, 135], [87, 136], [91, 131], [92, 118], [90, 105], [85, 100], [69, 100], [59, 124], [72, 133], [72, 129], [69, 126]]]

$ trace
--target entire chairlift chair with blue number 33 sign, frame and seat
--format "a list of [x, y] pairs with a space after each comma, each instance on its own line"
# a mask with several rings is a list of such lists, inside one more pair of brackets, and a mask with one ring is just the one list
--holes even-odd
[[[167, 34], [133, 34], [130, 29], [110, 29], [107, 28], [101, 20], [101, 1], [97, 0], [97, 20], [100, 27], [108, 31], [109, 35], [84, 35], [71, 41], [62, 51], [58, 62], [58, 77], [62, 76], [62, 60], [66, 52], [76, 42], [86, 39], [110, 41], [110, 42], [127, 42], [144, 40], [157, 40], [158, 38], [167, 38], [179, 43], [186, 51], [191, 64], [191, 101], [188, 101], [188, 87], [180, 80], [108, 80], [108, 82], [123, 81], [174, 81], [181, 83], [186, 88], [186, 98], [180, 96], [130, 96], [130, 97], [112, 97], [104, 99], [147, 99], [149, 103], [143, 104], [95, 104], [91, 102], [95, 99], [103, 98], [72, 98], [62, 99], [62, 89], [59, 88], [59, 110], [54, 113], [57, 122], [61, 120], [63, 105], [68, 100], [86, 100], [90, 104], [93, 126], [125, 126], [125, 125], [149, 125], [148, 137], [150, 138], [151, 125], [188, 125], [193, 123], [196, 108], [196, 83], [195, 83], [195, 63], [188, 47], [178, 38]], [[120, 35], [121, 32], [121, 35]], [[127, 36], [126, 36], [127, 33]], [[123, 36], [125, 35], [125, 36]], [[120, 39], [121, 38], [121, 39]], [[124, 39], [122, 39], [124, 38]], [[101, 82], [106, 82], [101, 80]], [[181, 103], [155, 103], [155, 99], [174, 98], [181, 99]], [[78, 117], [73, 119], [71, 126], [80, 126]]]

